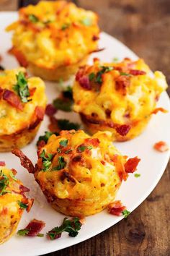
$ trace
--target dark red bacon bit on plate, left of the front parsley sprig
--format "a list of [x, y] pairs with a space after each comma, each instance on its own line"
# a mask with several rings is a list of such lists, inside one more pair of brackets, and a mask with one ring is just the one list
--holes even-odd
[[30, 221], [30, 223], [25, 228], [29, 230], [28, 234], [26, 235], [37, 236], [37, 234], [39, 234], [44, 227], [45, 227], [44, 221], [38, 221], [34, 218], [32, 221]]

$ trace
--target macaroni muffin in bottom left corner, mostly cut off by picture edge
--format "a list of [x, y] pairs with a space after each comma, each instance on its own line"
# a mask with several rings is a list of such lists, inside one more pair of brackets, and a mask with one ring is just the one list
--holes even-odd
[[6, 242], [17, 229], [24, 209], [30, 211], [32, 199], [27, 199], [24, 192], [30, 189], [24, 187], [15, 177], [17, 171], [6, 168], [0, 161], [0, 244]]

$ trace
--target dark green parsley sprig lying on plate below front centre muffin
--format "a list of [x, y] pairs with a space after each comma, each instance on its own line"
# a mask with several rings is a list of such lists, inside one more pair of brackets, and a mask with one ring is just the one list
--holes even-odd
[[67, 217], [63, 219], [61, 226], [56, 226], [55, 228], [48, 231], [47, 235], [51, 240], [58, 239], [61, 237], [63, 232], [68, 232], [68, 236], [75, 237], [79, 234], [81, 229], [81, 222], [79, 218], [75, 217], [73, 220], [69, 220]]

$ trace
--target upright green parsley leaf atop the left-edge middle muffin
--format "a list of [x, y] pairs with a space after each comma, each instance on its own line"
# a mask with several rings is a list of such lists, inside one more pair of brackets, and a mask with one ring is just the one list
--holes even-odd
[[23, 72], [19, 72], [17, 75], [17, 84], [14, 85], [14, 90], [17, 92], [22, 102], [27, 103], [27, 97], [30, 97], [30, 91], [27, 85], [27, 80], [24, 77]]

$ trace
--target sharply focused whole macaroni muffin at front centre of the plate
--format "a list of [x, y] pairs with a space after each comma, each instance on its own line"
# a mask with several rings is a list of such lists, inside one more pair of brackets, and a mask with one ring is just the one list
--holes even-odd
[[[112, 144], [111, 132], [51, 135], [38, 150], [35, 179], [48, 202], [66, 216], [89, 216], [113, 202], [122, 179], [140, 159], [127, 159]], [[15, 153], [19, 156], [18, 153]]]

